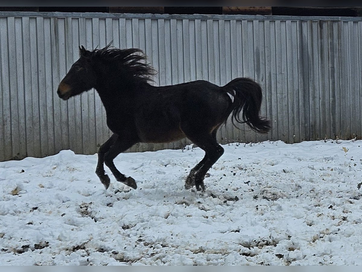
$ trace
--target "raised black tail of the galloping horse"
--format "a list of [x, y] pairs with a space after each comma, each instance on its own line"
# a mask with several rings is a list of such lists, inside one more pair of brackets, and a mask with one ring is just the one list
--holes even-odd
[[[233, 96], [230, 112], [232, 112], [232, 123], [235, 127], [234, 120], [240, 124], [247, 123], [253, 131], [259, 133], [270, 131], [270, 121], [259, 117], [262, 92], [258, 83], [249, 78], [235, 78], [223, 89]], [[243, 111], [243, 120], [239, 116], [241, 111]]]

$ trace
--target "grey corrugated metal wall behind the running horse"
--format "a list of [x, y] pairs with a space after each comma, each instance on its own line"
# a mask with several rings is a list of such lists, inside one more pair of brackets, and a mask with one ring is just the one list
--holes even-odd
[[159, 71], [155, 85], [256, 79], [272, 131], [260, 135], [229, 122], [221, 143], [361, 135], [361, 34], [360, 18], [0, 12], [0, 161], [97, 152], [110, 136], [98, 94], [65, 102], [55, 91], [79, 45], [102, 48], [112, 40], [145, 51]]

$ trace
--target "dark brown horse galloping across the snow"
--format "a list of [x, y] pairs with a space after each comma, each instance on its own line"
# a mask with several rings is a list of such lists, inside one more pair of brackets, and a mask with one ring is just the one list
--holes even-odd
[[[223, 87], [208, 81], [193, 81], [155, 87], [148, 84], [155, 70], [145, 64], [140, 49], [79, 48], [80, 58], [60, 82], [63, 100], [95, 88], [114, 133], [99, 149], [96, 174], [108, 188], [104, 163], [117, 181], [136, 189], [136, 182], [115, 167], [113, 160], [136, 143], [167, 143], [188, 137], [205, 151], [205, 157], [190, 171], [185, 188], [204, 190], [204, 178], [224, 153], [216, 132], [232, 114], [232, 122], [247, 123], [254, 131], [267, 133], [270, 121], [260, 118], [261, 87], [248, 78], [236, 78]], [[242, 115], [240, 118], [240, 113]]]

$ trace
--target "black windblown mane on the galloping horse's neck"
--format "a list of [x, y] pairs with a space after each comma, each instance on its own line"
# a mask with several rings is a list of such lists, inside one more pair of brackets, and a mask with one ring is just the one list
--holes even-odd
[[157, 74], [157, 71], [150, 63], [146, 63], [147, 56], [141, 49], [118, 49], [110, 47], [110, 45], [107, 45], [102, 49], [94, 49], [90, 53], [93, 57], [117, 62], [127, 73], [139, 79], [141, 82], [154, 81], [151, 77]]

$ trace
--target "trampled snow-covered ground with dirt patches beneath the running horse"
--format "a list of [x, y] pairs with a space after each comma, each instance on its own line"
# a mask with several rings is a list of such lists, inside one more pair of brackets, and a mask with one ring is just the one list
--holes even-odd
[[0, 265], [362, 264], [362, 141], [223, 147], [205, 192], [199, 148], [120, 154], [136, 190], [97, 155], [0, 162]]

